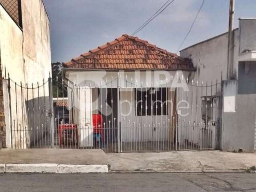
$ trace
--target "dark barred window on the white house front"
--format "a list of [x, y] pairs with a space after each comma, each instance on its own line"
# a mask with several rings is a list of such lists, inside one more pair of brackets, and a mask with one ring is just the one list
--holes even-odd
[[135, 89], [136, 115], [137, 116], [167, 115], [166, 100], [167, 100], [166, 88]]

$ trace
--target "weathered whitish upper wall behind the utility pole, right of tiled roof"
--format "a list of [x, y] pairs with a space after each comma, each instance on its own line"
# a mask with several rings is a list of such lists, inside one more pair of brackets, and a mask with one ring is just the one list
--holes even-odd
[[[239, 19], [239, 28], [234, 30], [234, 78], [238, 77], [240, 53], [245, 50], [256, 50], [256, 20]], [[220, 82], [226, 80], [228, 52], [228, 33], [192, 45], [180, 51], [180, 56], [190, 58], [196, 67], [192, 75], [198, 82]]]

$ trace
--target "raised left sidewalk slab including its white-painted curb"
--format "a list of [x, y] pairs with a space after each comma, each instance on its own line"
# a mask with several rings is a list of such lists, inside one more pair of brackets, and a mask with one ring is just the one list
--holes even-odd
[[0, 173], [106, 173], [108, 166], [107, 156], [102, 150], [0, 150]]

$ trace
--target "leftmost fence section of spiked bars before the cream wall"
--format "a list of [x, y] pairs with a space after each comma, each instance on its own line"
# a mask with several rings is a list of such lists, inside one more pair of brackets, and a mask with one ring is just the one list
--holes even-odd
[[51, 147], [51, 79], [36, 85], [7, 81], [11, 147]]

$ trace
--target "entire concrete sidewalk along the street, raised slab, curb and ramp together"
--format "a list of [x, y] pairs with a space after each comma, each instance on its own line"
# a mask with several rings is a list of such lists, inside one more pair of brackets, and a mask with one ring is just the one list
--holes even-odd
[[244, 172], [256, 153], [173, 151], [109, 153], [102, 150], [0, 150], [0, 173]]

